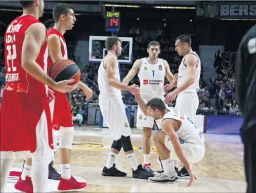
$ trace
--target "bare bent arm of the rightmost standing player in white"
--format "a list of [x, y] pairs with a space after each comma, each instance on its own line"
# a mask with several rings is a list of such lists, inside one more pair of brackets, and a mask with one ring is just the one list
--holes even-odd
[[186, 57], [184, 63], [186, 64], [188, 69], [188, 78], [181, 86], [175, 89], [177, 93], [186, 90], [190, 85], [195, 82], [196, 79], [196, 67], [198, 65], [198, 58], [193, 54], [189, 54]]

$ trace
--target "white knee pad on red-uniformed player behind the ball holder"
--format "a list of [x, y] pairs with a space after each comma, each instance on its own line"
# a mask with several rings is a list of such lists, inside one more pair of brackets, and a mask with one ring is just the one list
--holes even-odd
[[60, 127], [60, 144], [59, 148], [72, 149], [74, 138], [74, 127]]

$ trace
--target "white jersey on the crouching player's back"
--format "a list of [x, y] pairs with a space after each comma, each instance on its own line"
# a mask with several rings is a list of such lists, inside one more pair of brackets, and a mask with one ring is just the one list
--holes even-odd
[[163, 116], [164, 119], [175, 119], [181, 121], [181, 127], [176, 131], [178, 137], [188, 143], [204, 142], [203, 134], [196, 128], [196, 125], [180, 111], [173, 107], [167, 107], [169, 110]]

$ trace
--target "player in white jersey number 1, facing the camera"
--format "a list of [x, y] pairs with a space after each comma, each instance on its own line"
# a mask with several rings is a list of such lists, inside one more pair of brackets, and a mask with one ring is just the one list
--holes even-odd
[[[164, 78], [174, 86], [176, 81], [174, 75], [170, 72], [170, 68], [166, 60], [158, 58], [160, 54], [160, 44], [157, 41], [151, 41], [148, 44], [147, 52], [148, 58], [142, 58], [136, 60], [130, 72], [123, 79], [123, 83], [129, 84], [135, 75], [138, 73], [140, 79], [140, 88], [143, 100], [147, 103], [153, 98], [160, 98], [164, 100]], [[161, 120], [156, 120], [157, 126], [161, 128]], [[137, 111], [137, 128], [143, 128], [143, 157], [144, 157], [144, 168], [153, 173], [151, 164], [149, 161], [150, 153], [150, 137], [152, 128], [154, 125], [154, 119], [147, 117], [143, 114], [141, 109], [138, 107]]]

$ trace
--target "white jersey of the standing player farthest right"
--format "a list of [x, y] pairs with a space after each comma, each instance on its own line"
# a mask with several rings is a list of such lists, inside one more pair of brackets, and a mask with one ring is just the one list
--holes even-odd
[[199, 59], [199, 56], [195, 52], [190, 52], [186, 56], [183, 57], [183, 59], [181, 61], [181, 64], [180, 64], [180, 67], [179, 67], [177, 87], [179, 87], [182, 84], [184, 84], [184, 82], [188, 79], [188, 69], [184, 65], [184, 61], [185, 61], [186, 57], [189, 54], [193, 54], [193, 55], [195, 55], [198, 58], [198, 65], [196, 67], [196, 79], [195, 79], [195, 82], [192, 85], [190, 85], [186, 90], [184, 90], [181, 93], [197, 92], [200, 89], [199, 88], [199, 80], [200, 80], [200, 73], [201, 73], [201, 61]]

